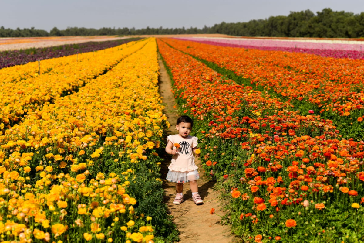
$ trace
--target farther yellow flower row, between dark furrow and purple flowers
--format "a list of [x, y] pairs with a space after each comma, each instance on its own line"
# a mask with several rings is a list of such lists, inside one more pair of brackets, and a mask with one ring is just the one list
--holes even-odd
[[46, 72], [40, 75], [37, 62], [1, 69], [0, 131], [44, 102], [73, 93], [142, 46], [142, 42], [132, 42], [97, 52], [42, 60], [41, 70]]

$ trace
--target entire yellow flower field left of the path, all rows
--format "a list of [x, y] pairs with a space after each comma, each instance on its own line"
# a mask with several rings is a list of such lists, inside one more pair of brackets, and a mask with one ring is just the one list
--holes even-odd
[[37, 65], [0, 70], [0, 242], [173, 238], [155, 39]]

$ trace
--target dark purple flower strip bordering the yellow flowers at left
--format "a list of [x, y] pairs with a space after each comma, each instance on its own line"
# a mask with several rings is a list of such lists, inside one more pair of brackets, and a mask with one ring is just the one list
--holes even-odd
[[104, 42], [85, 42], [45, 48], [2, 51], [0, 52], [0, 68], [26, 64], [28, 62], [35, 62], [36, 60], [58, 58], [61, 56], [69, 56], [77, 53], [103, 50], [140, 39], [142, 38], [108, 40]]

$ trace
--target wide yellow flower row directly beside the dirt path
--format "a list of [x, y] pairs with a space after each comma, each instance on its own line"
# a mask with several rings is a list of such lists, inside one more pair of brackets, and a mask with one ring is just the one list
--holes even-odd
[[127, 194], [137, 172], [102, 173], [106, 157], [126, 164], [157, 155], [169, 125], [158, 93], [155, 39], [143, 45], [77, 93], [29, 111], [0, 136], [4, 240], [154, 238], [145, 224], [150, 217], [135, 215], [137, 201]]

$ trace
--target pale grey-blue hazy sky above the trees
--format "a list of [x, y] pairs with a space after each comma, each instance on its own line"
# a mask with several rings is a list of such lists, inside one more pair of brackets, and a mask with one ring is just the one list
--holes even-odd
[[359, 14], [363, 0], [0, 0], [0, 26], [203, 28], [324, 8]]

